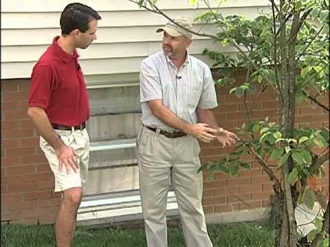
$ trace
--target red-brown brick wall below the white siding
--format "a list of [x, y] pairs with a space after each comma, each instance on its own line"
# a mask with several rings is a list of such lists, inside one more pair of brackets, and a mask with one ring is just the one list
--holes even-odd
[[[236, 73], [236, 78], [242, 80], [239, 77], [240, 74]], [[54, 193], [54, 177], [39, 148], [39, 135], [26, 113], [29, 88], [28, 79], [1, 81], [1, 222], [51, 224], [54, 223], [61, 195]], [[234, 130], [247, 120], [243, 100], [228, 95], [228, 89], [217, 91], [219, 107], [214, 113], [223, 128]], [[329, 104], [328, 95], [322, 101]], [[266, 90], [254, 99], [254, 119], [269, 115], [275, 120], [277, 106], [274, 93]], [[329, 115], [307, 102], [298, 106], [296, 119], [298, 124], [329, 126]], [[202, 145], [202, 162], [217, 159], [225, 152], [230, 150], [223, 150], [218, 143]], [[203, 205], [206, 213], [267, 207], [270, 204], [272, 186], [267, 175], [250, 156], [246, 156], [245, 160], [252, 162], [252, 170], [242, 170], [234, 178], [219, 173], [214, 181], [208, 181], [208, 174], [204, 173]], [[325, 192], [328, 183], [328, 178], [321, 181]]]

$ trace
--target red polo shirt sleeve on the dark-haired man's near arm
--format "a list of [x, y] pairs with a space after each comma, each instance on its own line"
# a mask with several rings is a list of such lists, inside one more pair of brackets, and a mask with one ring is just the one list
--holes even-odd
[[50, 105], [55, 86], [54, 73], [50, 67], [37, 64], [32, 71], [29, 106], [46, 109]]

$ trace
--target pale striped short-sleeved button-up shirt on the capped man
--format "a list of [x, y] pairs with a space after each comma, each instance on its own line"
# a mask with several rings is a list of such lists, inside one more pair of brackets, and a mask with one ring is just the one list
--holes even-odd
[[148, 101], [152, 99], [163, 99], [166, 108], [190, 124], [197, 123], [197, 107], [212, 109], [218, 106], [208, 65], [187, 54], [184, 64], [177, 69], [164, 51], [148, 56], [141, 63], [142, 124], [175, 131], [175, 128], [153, 115], [148, 106]]

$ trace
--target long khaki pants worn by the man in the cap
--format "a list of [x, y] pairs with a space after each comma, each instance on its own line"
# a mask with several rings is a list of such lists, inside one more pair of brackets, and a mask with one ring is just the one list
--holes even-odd
[[191, 136], [167, 138], [146, 127], [137, 137], [142, 212], [148, 247], [167, 246], [168, 188], [175, 189], [186, 246], [211, 247], [201, 205], [199, 143]]

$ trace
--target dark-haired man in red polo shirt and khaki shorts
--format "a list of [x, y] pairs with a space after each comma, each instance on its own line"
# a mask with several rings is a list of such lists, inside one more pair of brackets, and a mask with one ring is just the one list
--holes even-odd
[[96, 40], [98, 20], [92, 8], [70, 3], [61, 14], [61, 36], [34, 66], [28, 115], [41, 133], [40, 145], [62, 192], [56, 218], [58, 246], [71, 246], [78, 207], [87, 180], [89, 99], [76, 48]]

